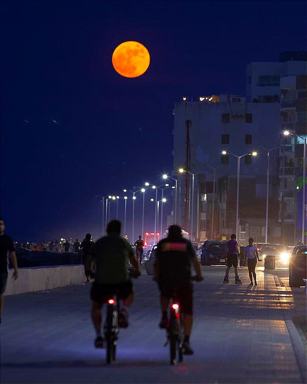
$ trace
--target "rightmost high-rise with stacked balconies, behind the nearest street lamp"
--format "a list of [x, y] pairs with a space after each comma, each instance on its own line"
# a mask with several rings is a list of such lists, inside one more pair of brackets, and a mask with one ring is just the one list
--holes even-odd
[[[284, 242], [297, 242], [302, 230], [303, 145], [307, 137], [307, 76], [280, 79], [279, 222]], [[304, 220], [306, 217], [304, 215]], [[305, 225], [306, 228], [306, 225]]]

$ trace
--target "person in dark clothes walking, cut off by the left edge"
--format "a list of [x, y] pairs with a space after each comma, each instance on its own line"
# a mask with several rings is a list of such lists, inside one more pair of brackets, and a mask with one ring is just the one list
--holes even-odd
[[10, 259], [14, 268], [13, 279], [16, 280], [18, 278], [15, 246], [11, 238], [4, 233], [4, 230], [4, 221], [0, 219], [0, 323], [3, 308], [3, 294], [8, 280], [8, 253], [10, 253]]

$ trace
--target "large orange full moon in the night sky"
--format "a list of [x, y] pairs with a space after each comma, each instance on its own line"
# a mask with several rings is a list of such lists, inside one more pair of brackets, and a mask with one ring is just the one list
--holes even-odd
[[150, 55], [138, 41], [124, 41], [115, 48], [112, 64], [116, 72], [124, 77], [143, 75], [149, 67]]

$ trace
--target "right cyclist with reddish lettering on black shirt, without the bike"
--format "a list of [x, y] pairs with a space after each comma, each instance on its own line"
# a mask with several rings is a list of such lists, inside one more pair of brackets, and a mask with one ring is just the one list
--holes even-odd
[[191, 263], [199, 281], [203, 280], [201, 267], [189, 240], [182, 237], [181, 228], [171, 225], [168, 237], [158, 243], [155, 258], [155, 279], [161, 292], [162, 318], [160, 328], [167, 328], [167, 308], [170, 298], [176, 293], [183, 313], [184, 344], [187, 355], [193, 354], [190, 334], [193, 324], [193, 288], [191, 283]]

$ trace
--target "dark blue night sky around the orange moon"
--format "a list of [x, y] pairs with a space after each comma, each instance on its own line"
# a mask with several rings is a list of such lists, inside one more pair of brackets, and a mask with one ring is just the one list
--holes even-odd
[[[2, 2], [7, 233], [25, 241], [97, 237], [95, 195], [170, 172], [173, 102], [244, 94], [249, 62], [306, 49], [306, 16], [303, 1]], [[112, 67], [113, 50], [126, 40], [150, 52], [140, 78]]]

